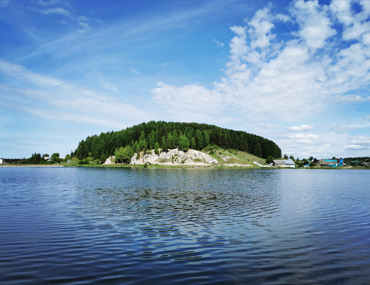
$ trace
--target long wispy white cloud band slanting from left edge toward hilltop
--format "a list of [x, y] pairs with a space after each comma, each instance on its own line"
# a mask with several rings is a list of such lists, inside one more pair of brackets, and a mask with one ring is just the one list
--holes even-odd
[[[24, 89], [0, 84], [0, 104], [46, 119], [119, 127], [122, 126], [122, 121], [131, 121], [135, 116], [141, 117], [142, 120], [152, 120], [155, 113], [141, 110], [94, 90], [33, 73], [14, 63], [0, 61], [0, 71], [20, 79], [21, 83], [29, 81], [41, 88]], [[104, 81], [102, 83], [104, 85]], [[105, 87], [114, 89], [108, 83]], [[99, 114], [98, 119], [96, 114]]]

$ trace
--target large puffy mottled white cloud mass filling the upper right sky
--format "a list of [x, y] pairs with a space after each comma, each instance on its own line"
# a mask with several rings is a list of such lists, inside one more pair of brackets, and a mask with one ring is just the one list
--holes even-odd
[[[365, 2], [359, 4], [365, 6]], [[290, 5], [289, 13], [274, 13], [270, 5], [245, 19], [246, 26], [230, 27], [235, 37], [229, 43], [230, 61], [225, 65], [224, 76], [213, 83], [213, 89], [203, 88], [198, 96], [217, 93], [223, 102], [220, 107], [234, 108], [247, 118], [285, 121], [307, 113], [322, 113], [332, 105], [333, 98], [337, 103], [368, 101], [369, 97], [344, 94], [369, 85], [370, 51], [361, 39], [363, 36], [370, 42], [370, 27], [364, 26], [360, 31], [359, 42], [349, 43], [340, 38], [342, 31], [334, 28], [339, 21], [333, 16], [335, 13], [343, 25], [347, 25], [346, 21], [352, 25], [352, 20], [339, 15], [339, 10], [318, 1], [298, 0]], [[350, 13], [351, 17], [365, 17], [359, 15], [363, 12]], [[295, 38], [276, 34], [277, 22], [296, 23], [298, 28], [292, 31]], [[335, 40], [330, 42], [333, 37]], [[317, 52], [318, 49], [322, 51]], [[156, 95], [160, 92], [156, 89]], [[244, 112], [246, 109], [248, 113]], [[286, 115], [282, 116], [284, 112]], [[297, 127], [296, 131], [300, 130]]]

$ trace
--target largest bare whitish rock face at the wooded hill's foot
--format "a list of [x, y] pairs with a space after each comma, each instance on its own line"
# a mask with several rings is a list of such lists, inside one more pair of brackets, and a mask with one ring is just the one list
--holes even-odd
[[154, 150], [144, 154], [140, 153], [140, 158], [136, 158], [135, 154], [131, 158], [130, 164], [157, 164], [157, 165], [212, 165], [217, 164], [217, 159], [211, 157], [204, 152], [197, 150], [188, 150], [184, 152], [177, 148], [169, 150], [168, 152], [161, 152], [159, 155], [155, 154]]

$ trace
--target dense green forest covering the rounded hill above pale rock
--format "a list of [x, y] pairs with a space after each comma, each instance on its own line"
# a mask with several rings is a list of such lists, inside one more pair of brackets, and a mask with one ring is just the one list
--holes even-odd
[[116, 148], [131, 146], [134, 152], [142, 150], [162, 150], [192, 148], [202, 150], [212, 145], [228, 149], [249, 152], [258, 157], [281, 157], [281, 150], [277, 144], [259, 135], [244, 131], [234, 131], [208, 124], [174, 123], [164, 121], [150, 121], [128, 127], [121, 131], [111, 131], [92, 135], [82, 140], [73, 156], [80, 158], [92, 157], [105, 161], [114, 155]]

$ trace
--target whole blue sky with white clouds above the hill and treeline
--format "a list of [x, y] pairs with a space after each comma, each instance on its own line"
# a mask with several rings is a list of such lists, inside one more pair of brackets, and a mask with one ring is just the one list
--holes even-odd
[[148, 121], [370, 156], [370, 1], [0, 0], [0, 157]]

